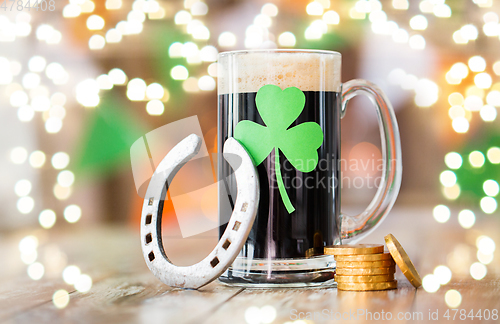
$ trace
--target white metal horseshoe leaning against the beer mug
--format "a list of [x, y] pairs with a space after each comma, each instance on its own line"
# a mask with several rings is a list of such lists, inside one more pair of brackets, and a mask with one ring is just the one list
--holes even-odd
[[[167, 186], [184, 164], [194, 157], [201, 139], [191, 134], [179, 142], [160, 162], [149, 182], [141, 217], [141, 245], [151, 272], [166, 285], [198, 289], [218, 278], [236, 259], [257, 214], [259, 179], [245, 148], [230, 137], [224, 143], [224, 158], [236, 177], [238, 195], [227, 228], [215, 248], [202, 261], [187, 267], [170, 262], [161, 239], [161, 215]], [[228, 154], [241, 158], [241, 164]]]

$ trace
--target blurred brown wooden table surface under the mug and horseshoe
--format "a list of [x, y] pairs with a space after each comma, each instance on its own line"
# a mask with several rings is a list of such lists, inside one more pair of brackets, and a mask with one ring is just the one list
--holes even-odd
[[[264, 306], [276, 311], [272, 323], [370, 322], [370, 313], [371, 321], [385, 322], [376, 319], [377, 316], [387, 318], [387, 312], [395, 322], [399, 316], [403, 317], [401, 322], [427, 323], [432, 321], [429, 316], [437, 315], [439, 320], [432, 322], [499, 323], [500, 319], [478, 317], [461, 320], [460, 315], [462, 310], [467, 315], [471, 310], [474, 315], [480, 309], [481, 314], [486, 309], [492, 314], [494, 310], [500, 311], [498, 252], [488, 265], [484, 279], [477, 281], [468, 274], [470, 264], [477, 261], [475, 239], [485, 234], [500, 242], [500, 221], [498, 217], [485, 216], [478, 218], [473, 229], [464, 230], [458, 225], [457, 213], [452, 215], [455, 217], [448, 223], [438, 224], [432, 218], [432, 207], [399, 207], [363, 240], [383, 243], [384, 235], [394, 234], [422, 277], [440, 264], [456, 262], [450, 260], [453, 253], [462, 253], [458, 260], [464, 265], [452, 268], [452, 280], [436, 293], [414, 289], [399, 270], [398, 289], [389, 291], [244, 289], [218, 282], [200, 290], [175, 289], [165, 286], [147, 269], [136, 229], [73, 226], [54, 233], [39, 230], [41, 244], [50, 245], [52, 249], [58, 247], [66, 255], [67, 265], [78, 265], [92, 277], [91, 290], [79, 293], [63, 281], [60, 271], [47, 272], [38, 281], [30, 279], [17, 249], [20, 238], [30, 233], [4, 235], [0, 236], [0, 323], [252, 323], [245, 319], [245, 313], [248, 315], [252, 310], [258, 313]], [[169, 244], [173, 243], [171, 240]], [[189, 264], [201, 258], [207, 246], [210, 248], [209, 244], [202, 243], [203, 240], [185, 240], [182, 247], [167, 245], [167, 254], [174, 261]], [[69, 304], [63, 309], [56, 308], [52, 302], [52, 295], [58, 289], [70, 293]], [[444, 296], [450, 289], [460, 292], [462, 302], [456, 311], [448, 312], [450, 319], [447, 320], [444, 315], [449, 308]], [[301, 322], [299, 316], [313, 319]], [[339, 316], [343, 319], [338, 320]]]

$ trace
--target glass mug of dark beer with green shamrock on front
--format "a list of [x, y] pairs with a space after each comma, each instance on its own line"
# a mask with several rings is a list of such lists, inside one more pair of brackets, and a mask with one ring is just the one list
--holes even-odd
[[[340, 121], [359, 94], [377, 110], [384, 160], [375, 197], [364, 212], [348, 216], [340, 208]], [[401, 185], [399, 130], [385, 94], [365, 80], [341, 83], [337, 52], [234, 51], [219, 54], [218, 105], [219, 204], [237, 193], [222, 156], [230, 137], [252, 158], [260, 190], [250, 234], [219, 280], [247, 287], [334, 283], [335, 260], [323, 248], [370, 233]], [[220, 224], [230, 216], [220, 209]]]

